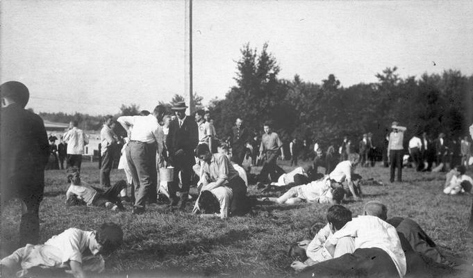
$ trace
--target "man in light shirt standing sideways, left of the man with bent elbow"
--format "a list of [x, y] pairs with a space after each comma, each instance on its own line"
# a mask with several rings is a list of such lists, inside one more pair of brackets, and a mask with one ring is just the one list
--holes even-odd
[[100, 184], [110, 187], [110, 172], [112, 171], [113, 155], [117, 149], [117, 136], [112, 129], [113, 117], [107, 115], [103, 118], [103, 127], [100, 131], [101, 158]]

